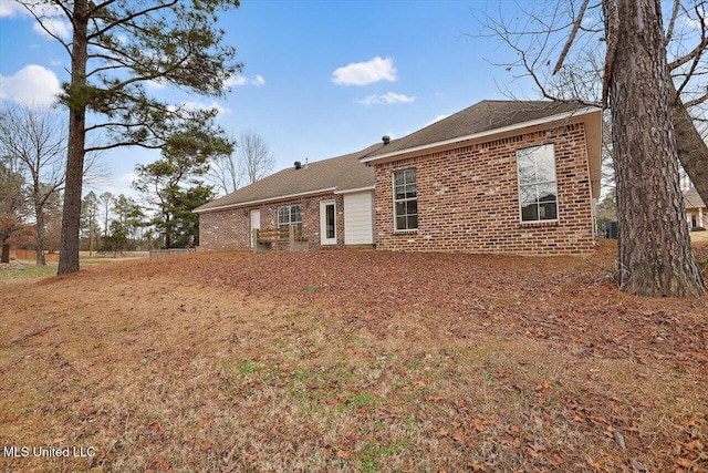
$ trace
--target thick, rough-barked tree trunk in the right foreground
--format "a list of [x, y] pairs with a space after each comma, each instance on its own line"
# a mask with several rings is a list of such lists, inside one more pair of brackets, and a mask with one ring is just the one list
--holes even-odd
[[[611, 0], [612, 1], [612, 0]], [[658, 0], [614, 0], [610, 95], [620, 225], [620, 287], [653, 297], [706, 292], [694, 260]]]

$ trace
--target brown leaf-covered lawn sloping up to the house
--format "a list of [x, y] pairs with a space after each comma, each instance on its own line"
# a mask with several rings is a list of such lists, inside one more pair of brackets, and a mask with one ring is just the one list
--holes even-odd
[[192, 254], [7, 282], [0, 469], [708, 471], [708, 298], [618, 292], [614, 258]]

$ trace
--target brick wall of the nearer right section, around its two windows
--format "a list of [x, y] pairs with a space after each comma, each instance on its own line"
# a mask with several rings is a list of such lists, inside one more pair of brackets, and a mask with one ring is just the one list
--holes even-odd
[[[518, 148], [554, 143], [558, 222], [521, 223]], [[416, 168], [418, 229], [395, 232], [394, 171]], [[591, 183], [582, 123], [376, 165], [376, 247], [519, 255], [593, 249]]]

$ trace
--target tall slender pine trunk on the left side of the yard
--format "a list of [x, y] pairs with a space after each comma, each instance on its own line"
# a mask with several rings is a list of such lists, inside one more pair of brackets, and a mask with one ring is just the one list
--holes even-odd
[[71, 54], [71, 89], [69, 91], [69, 143], [62, 235], [59, 246], [58, 275], [79, 271], [79, 230], [81, 227], [81, 194], [86, 142], [86, 63], [88, 2], [74, 1], [73, 47]]

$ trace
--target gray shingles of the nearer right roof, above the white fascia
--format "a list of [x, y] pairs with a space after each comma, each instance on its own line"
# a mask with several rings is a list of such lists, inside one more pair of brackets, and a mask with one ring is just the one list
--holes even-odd
[[577, 103], [550, 101], [485, 100], [444, 120], [435, 122], [388, 145], [372, 150], [364, 160], [395, 152], [445, 142], [457, 137], [504, 128], [586, 109]]

